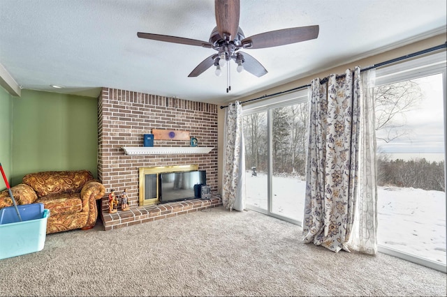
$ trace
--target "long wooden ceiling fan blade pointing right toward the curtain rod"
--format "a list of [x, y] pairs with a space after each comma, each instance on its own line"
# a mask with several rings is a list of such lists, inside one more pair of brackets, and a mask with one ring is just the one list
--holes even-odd
[[249, 49], [262, 49], [264, 47], [277, 47], [291, 43], [311, 40], [318, 37], [319, 26], [300, 26], [296, 28], [281, 29], [249, 36], [242, 40], [242, 47]]

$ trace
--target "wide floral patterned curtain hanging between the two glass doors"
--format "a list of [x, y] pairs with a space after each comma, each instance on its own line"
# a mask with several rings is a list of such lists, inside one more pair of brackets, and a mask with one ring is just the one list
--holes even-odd
[[[346, 70], [340, 78], [330, 75], [326, 84], [318, 78], [312, 81], [303, 241], [334, 252], [349, 252], [359, 190], [363, 190], [358, 186], [361, 98], [360, 68], [354, 73]], [[374, 109], [369, 112], [374, 114]], [[375, 139], [374, 127], [371, 136]]]

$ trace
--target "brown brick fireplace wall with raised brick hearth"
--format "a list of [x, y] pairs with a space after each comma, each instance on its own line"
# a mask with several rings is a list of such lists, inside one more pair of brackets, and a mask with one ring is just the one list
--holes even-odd
[[[126, 155], [123, 147], [142, 147], [143, 135], [151, 129], [189, 131], [198, 146], [211, 147], [210, 153], [162, 153]], [[189, 141], [155, 140], [154, 147], [189, 147]], [[173, 165], [198, 165], [206, 170], [212, 199], [140, 206], [139, 168]], [[217, 196], [217, 105], [179, 98], [103, 88], [98, 98], [98, 178], [106, 189], [119, 195], [124, 188], [130, 211], [108, 213], [108, 199], [101, 201], [104, 229], [159, 220], [173, 215], [219, 206]]]

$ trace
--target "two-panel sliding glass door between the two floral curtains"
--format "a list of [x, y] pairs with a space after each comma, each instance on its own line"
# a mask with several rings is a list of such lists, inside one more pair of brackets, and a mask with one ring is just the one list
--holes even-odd
[[300, 224], [305, 200], [307, 91], [244, 108], [247, 208]]

